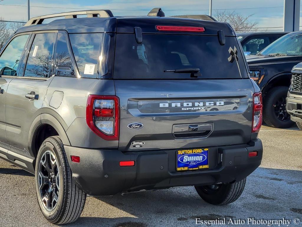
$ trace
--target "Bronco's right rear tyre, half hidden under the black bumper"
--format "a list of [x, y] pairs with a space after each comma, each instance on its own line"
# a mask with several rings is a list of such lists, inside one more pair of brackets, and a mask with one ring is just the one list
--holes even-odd
[[243, 192], [246, 178], [231, 184], [195, 186], [198, 195], [205, 202], [213, 205], [226, 205], [235, 202]]

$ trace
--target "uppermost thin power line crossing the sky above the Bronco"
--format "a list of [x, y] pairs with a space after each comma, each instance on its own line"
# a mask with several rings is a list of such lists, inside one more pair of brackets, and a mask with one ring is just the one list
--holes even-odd
[[[0, 4], [0, 5], [27, 7], [26, 5], [10, 5], [10, 4]], [[36, 7], [36, 8], [60, 8], [60, 9], [92, 9], [92, 8], [71, 8], [71, 7], [35, 6], [35, 5], [32, 5], [31, 7]], [[227, 8], [227, 9], [214, 9], [214, 10], [266, 9], [266, 8], [283, 8], [283, 6], [255, 7], [255, 8]], [[120, 10], [120, 11], [149, 11], [150, 9], [111, 9], [111, 10]], [[208, 9], [165, 9], [165, 11], [200, 11], [200, 10], [206, 10], [206, 11], [208, 11]]]

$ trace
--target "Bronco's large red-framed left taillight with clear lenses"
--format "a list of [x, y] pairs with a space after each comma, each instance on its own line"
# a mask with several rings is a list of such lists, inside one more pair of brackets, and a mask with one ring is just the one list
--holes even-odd
[[118, 97], [89, 95], [86, 122], [89, 128], [104, 140], [118, 140], [120, 122]]

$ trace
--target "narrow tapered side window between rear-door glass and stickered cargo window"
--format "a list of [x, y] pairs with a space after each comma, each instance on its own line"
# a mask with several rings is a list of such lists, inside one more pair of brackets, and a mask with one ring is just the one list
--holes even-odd
[[67, 48], [66, 36], [58, 33], [56, 44], [56, 75], [58, 76], [74, 76], [71, 58]]

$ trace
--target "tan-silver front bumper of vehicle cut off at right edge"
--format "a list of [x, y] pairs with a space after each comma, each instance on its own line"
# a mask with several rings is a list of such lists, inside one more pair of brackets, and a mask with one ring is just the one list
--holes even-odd
[[288, 93], [286, 110], [291, 115], [291, 120], [302, 123], [302, 95]]

